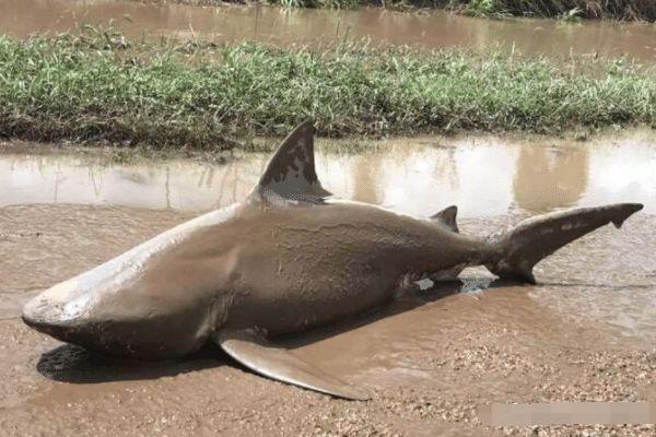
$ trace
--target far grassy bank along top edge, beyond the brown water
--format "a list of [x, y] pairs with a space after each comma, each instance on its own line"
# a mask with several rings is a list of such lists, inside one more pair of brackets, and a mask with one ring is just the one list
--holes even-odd
[[[139, 0], [145, 3], [185, 3], [212, 5], [222, 0]], [[251, 2], [234, 0], [233, 2]], [[257, 0], [253, 1], [257, 2]], [[656, 21], [654, 0], [261, 0], [261, 3], [291, 8], [447, 9], [473, 16], [532, 16], [574, 21], [578, 19], [614, 19]]]

